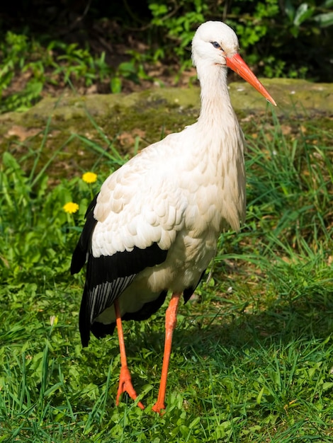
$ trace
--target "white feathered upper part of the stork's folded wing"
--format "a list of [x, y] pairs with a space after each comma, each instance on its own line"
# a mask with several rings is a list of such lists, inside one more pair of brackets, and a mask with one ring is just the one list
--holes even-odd
[[188, 197], [179, 186], [177, 158], [166, 144], [169, 137], [146, 148], [103, 183], [94, 210], [95, 257], [132, 251], [135, 246], [145, 249], [152, 243], [170, 248], [183, 226]]

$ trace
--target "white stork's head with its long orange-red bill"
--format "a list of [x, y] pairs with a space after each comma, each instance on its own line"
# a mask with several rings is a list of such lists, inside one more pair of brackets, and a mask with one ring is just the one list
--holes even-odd
[[[276, 105], [266, 88], [256, 78], [239, 55], [239, 42], [235, 32], [220, 21], [207, 21], [199, 26], [192, 40], [193, 65], [204, 72], [209, 66], [227, 67], [237, 72], [262, 96]], [[198, 72], [199, 75], [199, 72]]]

